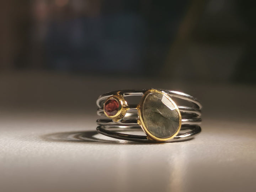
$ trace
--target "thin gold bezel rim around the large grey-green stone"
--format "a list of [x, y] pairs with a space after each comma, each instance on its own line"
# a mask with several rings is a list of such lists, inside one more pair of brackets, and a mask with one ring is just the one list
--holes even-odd
[[[143, 117], [142, 117], [142, 108], [143, 108], [143, 104], [144, 104], [144, 100], [145, 100], [146, 96], [148, 96], [150, 93], [153, 93], [153, 92], [165, 95], [172, 102], [172, 104], [174, 104], [175, 109], [178, 111], [180, 124], [179, 124], [179, 127], [178, 127], [177, 131], [171, 137], [168, 137], [168, 138], [158, 138], [158, 137], [155, 137], [154, 135], [152, 135], [149, 132], [149, 130], [145, 126], [145, 123], [144, 123], [144, 120], [143, 120]], [[142, 127], [144, 133], [146, 133], [147, 138], [149, 140], [156, 140], [156, 141], [160, 141], [160, 142], [167, 141], [167, 140], [170, 140], [170, 139], [174, 138], [178, 134], [178, 132], [180, 131], [180, 129], [181, 129], [181, 113], [180, 113], [180, 110], [178, 109], [176, 103], [165, 92], [159, 91], [159, 90], [155, 90], [155, 89], [150, 89], [150, 90], [146, 91], [144, 93], [144, 95], [142, 96], [142, 98], [140, 99], [140, 103], [137, 106], [137, 108], [138, 108], [138, 124], [140, 125], [140, 127]]]

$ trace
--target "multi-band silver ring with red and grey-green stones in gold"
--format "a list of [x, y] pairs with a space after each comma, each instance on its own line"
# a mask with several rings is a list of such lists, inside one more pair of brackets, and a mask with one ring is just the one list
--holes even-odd
[[[138, 98], [139, 97], [139, 98]], [[133, 104], [136, 100], [137, 104]], [[134, 100], [134, 101], [129, 101]], [[201, 132], [202, 105], [191, 95], [165, 89], [119, 90], [98, 97], [97, 132], [135, 142], [175, 142]], [[143, 131], [146, 135], [121, 132]]]

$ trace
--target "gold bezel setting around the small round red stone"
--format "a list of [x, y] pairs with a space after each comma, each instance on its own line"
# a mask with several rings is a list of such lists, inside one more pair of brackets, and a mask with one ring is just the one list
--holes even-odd
[[[113, 116], [108, 116], [107, 113], [105, 112], [105, 103], [109, 99], [115, 99], [119, 103], [118, 112], [117, 112], [117, 114], [115, 114]], [[124, 100], [122, 95], [112, 95], [106, 99], [105, 103], [103, 106], [103, 111], [104, 111], [105, 115], [108, 118], [113, 119], [114, 122], [118, 122], [120, 119], [122, 119], [125, 116], [126, 111], [128, 110], [127, 102], [126, 102], [126, 100]]]

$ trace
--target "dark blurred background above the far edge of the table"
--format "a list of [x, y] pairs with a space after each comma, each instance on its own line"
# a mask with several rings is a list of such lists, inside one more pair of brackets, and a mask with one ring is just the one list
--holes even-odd
[[255, 4], [4, 1], [0, 70], [255, 84]]

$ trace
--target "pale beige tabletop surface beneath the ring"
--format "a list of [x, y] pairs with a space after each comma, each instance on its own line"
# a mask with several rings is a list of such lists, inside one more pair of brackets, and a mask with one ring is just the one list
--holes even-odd
[[[108, 82], [113, 80], [1, 75], [1, 192], [256, 191], [255, 86]], [[166, 144], [107, 140], [103, 135], [94, 141], [80, 138], [91, 139], [96, 128], [98, 95], [135, 87], [180, 90], [200, 98], [202, 133]]]

